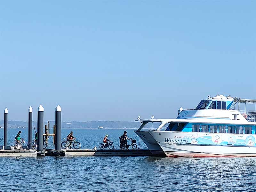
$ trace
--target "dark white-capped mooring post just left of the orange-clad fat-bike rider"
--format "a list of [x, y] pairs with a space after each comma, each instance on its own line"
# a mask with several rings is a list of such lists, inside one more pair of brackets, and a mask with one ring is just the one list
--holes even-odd
[[61, 107], [55, 108], [55, 150], [61, 150]]

